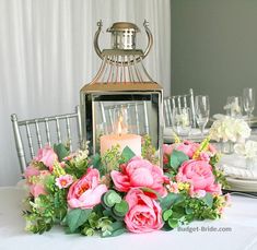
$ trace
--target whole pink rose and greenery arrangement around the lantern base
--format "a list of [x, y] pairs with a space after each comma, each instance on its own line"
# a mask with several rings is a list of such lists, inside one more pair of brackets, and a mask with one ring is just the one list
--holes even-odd
[[70, 154], [62, 144], [45, 146], [25, 171], [26, 229], [43, 234], [59, 224], [70, 234], [108, 237], [219, 218], [229, 197], [222, 195], [224, 177], [209, 140], [163, 150], [164, 169], [155, 165], [149, 139], [142, 157], [129, 147], [101, 157], [87, 150]]

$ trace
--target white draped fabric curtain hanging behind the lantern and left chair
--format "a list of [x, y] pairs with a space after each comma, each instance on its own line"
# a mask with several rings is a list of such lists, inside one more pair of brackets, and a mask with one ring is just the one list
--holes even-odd
[[[171, 91], [170, 0], [0, 0], [0, 186], [14, 184], [20, 167], [10, 115], [28, 119], [73, 111], [79, 91], [96, 74], [96, 22], [136, 23], [145, 48], [145, 20], [154, 46], [144, 64]], [[101, 34], [109, 48], [109, 34]]]

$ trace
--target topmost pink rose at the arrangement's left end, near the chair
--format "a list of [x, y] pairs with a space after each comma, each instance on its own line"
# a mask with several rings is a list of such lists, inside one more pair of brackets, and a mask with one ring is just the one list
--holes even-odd
[[58, 160], [58, 156], [49, 145], [46, 145], [38, 151], [34, 159], [44, 163], [50, 170], [52, 170], [54, 163]]

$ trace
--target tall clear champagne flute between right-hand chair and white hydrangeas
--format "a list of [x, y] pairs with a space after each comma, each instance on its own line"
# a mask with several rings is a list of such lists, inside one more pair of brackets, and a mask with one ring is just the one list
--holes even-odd
[[196, 121], [201, 131], [201, 136], [203, 136], [206, 124], [209, 120], [210, 114], [210, 102], [207, 95], [196, 96]]

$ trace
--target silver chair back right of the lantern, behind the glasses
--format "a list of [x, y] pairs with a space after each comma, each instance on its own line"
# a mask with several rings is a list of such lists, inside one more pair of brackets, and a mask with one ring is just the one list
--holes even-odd
[[189, 88], [188, 94], [165, 97], [163, 100], [163, 108], [165, 127], [172, 127], [172, 111], [174, 108], [190, 108], [192, 128], [196, 128], [196, 111], [192, 88]]

